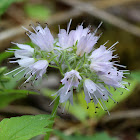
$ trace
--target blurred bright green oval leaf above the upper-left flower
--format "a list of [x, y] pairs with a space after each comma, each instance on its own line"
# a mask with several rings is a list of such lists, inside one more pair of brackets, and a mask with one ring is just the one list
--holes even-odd
[[43, 5], [28, 4], [24, 8], [30, 18], [46, 20], [51, 15], [51, 11]]

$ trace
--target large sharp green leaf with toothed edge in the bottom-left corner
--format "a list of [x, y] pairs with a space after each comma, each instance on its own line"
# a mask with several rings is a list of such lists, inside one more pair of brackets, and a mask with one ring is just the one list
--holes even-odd
[[0, 122], [0, 140], [29, 140], [37, 135], [51, 131], [50, 115], [25, 115], [4, 119]]

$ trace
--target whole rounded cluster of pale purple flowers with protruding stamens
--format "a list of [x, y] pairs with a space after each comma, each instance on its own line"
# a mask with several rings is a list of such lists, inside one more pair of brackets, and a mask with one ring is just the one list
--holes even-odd
[[20, 67], [9, 73], [17, 71], [13, 75], [16, 76], [24, 71], [23, 77], [27, 79], [24, 83], [30, 80], [34, 83], [42, 78], [48, 67], [57, 68], [63, 76], [62, 87], [54, 94], [56, 98], [59, 97], [60, 103], [69, 101], [73, 104], [73, 91], [83, 88], [87, 104], [93, 102], [95, 108], [99, 104], [103, 110], [108, 111], [104, 102], [109, 98], [116, 101], [106, 86], [115, 90], [127, 89], [128, 83], [122, 80], [128, 72], [119, 70], [118, 67], [125, 66], [113, 61], [118, 58], [118, 55], [113, 55], [118, 42], [111, 47], [106, 47], [106, 42], [95, 48], [101, 36], [96, 35], [101, 24], [94, 32], [90, 27], [84, 28], [83, 24], [70, 31], [70, 20], [67, 30], [59, 29], [57, 39], [53, 38], [48, 26], [43, 29], [39, 23], [37, 27], [30, 25], [34, 32], [23, 27], [34, 45], [13, 43], [19, 49], [10, 49], [15, 55], [15, 60], [10, 63], [18, 63]]

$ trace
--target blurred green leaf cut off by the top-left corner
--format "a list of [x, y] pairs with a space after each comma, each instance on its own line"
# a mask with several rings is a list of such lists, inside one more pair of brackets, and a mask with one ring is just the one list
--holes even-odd
[[14, 2], [21, 0], [0, 0], [0, 16], [7, 10], [7, 8]]

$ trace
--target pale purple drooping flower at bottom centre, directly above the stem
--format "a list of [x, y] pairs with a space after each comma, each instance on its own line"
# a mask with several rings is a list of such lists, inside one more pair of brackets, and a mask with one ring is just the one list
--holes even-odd
[[[55, 94], [53, 94], [53, 96], [56, 94], [56, 98], [60, 96], [60, 103], [64, 103], [69, 100], [70, 103], [73, 104], [73, 89], [78, 87], [81, 79], [82, 78], [79, 75], [79, 72], [76, 70], [66, 72], [64, 78], [61, 80], [62, 85], [64, 86], [60, 88]], [[54, 102], [54, 100], [52, 101], [52, 103]]]

